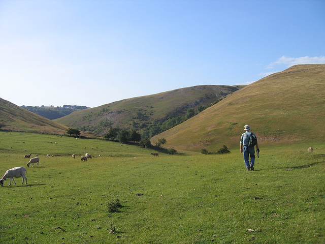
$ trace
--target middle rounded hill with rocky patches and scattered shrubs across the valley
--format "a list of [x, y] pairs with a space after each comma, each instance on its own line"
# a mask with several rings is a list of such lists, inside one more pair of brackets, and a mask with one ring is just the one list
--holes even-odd
[[198, 85], [180, 88], [76, 111], [54, 121], [100, 135], [107, 133], [110, 126], [134, 129], [149, 135], [149, 131], [154, 133], [153, 130], [159, 130], [157, 125], [166, 119], [184, 117], [188, 109], [197, 112], [241, 87], [243, 86]]

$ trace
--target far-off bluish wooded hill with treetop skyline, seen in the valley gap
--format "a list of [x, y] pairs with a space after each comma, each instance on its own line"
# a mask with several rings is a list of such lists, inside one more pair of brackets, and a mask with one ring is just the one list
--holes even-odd
[[74, 111], [78, 111], [80, 109], [86, 109], [88, 107], [86, 106], [71, 106], [71, 105], [63, 105], [63, 107], [45, 107], [45, 106], [21, 106], [22, 108], [36, 113], [38, 115], [41, 115], [43, 117], [46, 117], [48, 119], [55, 119], [55, 118], [60, 118], [66, 115], [71, 114]]

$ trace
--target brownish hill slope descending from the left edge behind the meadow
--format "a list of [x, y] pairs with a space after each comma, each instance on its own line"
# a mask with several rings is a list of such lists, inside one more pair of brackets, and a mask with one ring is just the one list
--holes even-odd
[[[67, 126], [29, 112], [2, 98], [0, 98], [0, 126], [2, 130], [59, 135], [66, 133], [68, 129]], [[98, 137], [94, 133], [82, 133], [82, 136]]]

